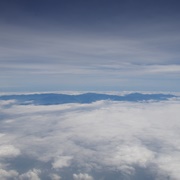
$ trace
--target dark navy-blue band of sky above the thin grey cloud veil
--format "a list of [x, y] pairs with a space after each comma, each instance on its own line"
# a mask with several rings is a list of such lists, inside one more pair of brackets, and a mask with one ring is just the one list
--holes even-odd
[[123, 32], [128, 26], [178, 23], [180, 17], [178, 0], [6, 0], [0, 5], [1, 24], [51, 29]]

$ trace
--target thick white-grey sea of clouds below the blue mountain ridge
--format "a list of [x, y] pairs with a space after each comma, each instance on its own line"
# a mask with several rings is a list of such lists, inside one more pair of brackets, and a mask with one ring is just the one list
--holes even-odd
[[180, 101], [0, 101], [1, 180], [179, 180]]

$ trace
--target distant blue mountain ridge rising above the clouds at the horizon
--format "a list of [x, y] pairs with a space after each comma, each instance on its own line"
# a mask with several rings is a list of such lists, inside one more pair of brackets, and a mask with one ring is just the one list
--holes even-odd
[[110, 95], [110, 94], [98, 94], [98, 93], [85, 93], [78, 95], [68, 94], [22, 94], [22, 95], [3, 95], [0, 96], [0, 100], [16, 100], [19, 104], [35, 104], [35, 105], [53, 105], [53, 104], [66, 104], [66, 103], [92, 103], [100, 100], [111, 101], [162, 101], [169, 98], [177, 97], [172, 94], [141, 94], [130, 93], [126, 95]]

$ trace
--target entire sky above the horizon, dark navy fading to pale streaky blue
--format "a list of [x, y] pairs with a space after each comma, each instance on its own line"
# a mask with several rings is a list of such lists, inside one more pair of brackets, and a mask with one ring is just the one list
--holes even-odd
[[179, 0], [0, 1], [0, 91], [180, 91]]

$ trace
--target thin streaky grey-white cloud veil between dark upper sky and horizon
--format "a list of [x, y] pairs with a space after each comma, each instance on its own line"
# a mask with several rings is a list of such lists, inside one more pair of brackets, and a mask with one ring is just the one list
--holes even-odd
[[[159, 30], [166, 26], [156, 24], [157, 33], [132, 38], [2, 25], [1, 91], [17, 91], [16, 88], [29, 91], [35, 86], [47, 91], [73, 87], [139, 90], [143, 86], [154, 90], [164, 77], [166, 89], [179, 89], [179, 32], [166, 35]], [[142, 33], [149, 31], [149, 26], [142, 28]]]

